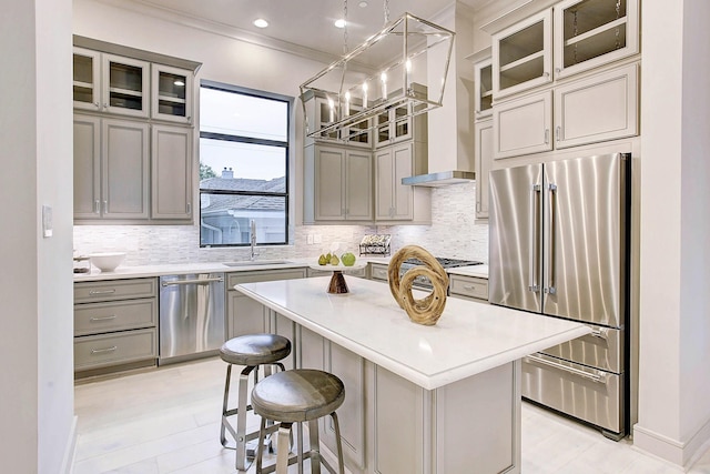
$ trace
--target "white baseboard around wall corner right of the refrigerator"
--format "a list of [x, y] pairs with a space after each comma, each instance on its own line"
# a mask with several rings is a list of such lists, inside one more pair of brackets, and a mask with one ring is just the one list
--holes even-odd
[[633, 446], [687, 470], [710, 447], [710, 420], [684, 442], [637, 423], [633, 425]]

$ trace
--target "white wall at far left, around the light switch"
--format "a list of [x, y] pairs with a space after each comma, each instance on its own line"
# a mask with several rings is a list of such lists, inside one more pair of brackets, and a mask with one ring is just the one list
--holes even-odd
[[[58, 473], [73, 442], [71, 1], [0, 17], [0, 460]], [[53, 236], [40, 234], [42, 204]]]

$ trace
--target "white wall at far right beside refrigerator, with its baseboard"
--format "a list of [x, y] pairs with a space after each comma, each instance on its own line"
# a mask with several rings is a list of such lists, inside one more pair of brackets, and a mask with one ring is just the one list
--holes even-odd
[[710, 441], [710, 3], [642, 16], [641, 321], [635, 444], [688, 465]]

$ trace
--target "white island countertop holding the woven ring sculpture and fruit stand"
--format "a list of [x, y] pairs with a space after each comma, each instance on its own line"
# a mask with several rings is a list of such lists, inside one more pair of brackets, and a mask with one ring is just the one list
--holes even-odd
[[326, 292], [329, 279], [325, 276], [245, 283], [235, 289], [426, 390], [591, 331], [570, 321], [455, 297], [446, 300], [436, 325], [424, 326], [409, 321], [388, 285], [346, 280], [351, 293], [342, 295]]

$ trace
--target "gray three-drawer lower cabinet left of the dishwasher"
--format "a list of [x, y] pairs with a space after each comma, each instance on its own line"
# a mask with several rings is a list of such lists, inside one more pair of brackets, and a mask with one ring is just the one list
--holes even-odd
[[78, 377], [153, 365], [156, 359], [155, 279], [74, 283]]

